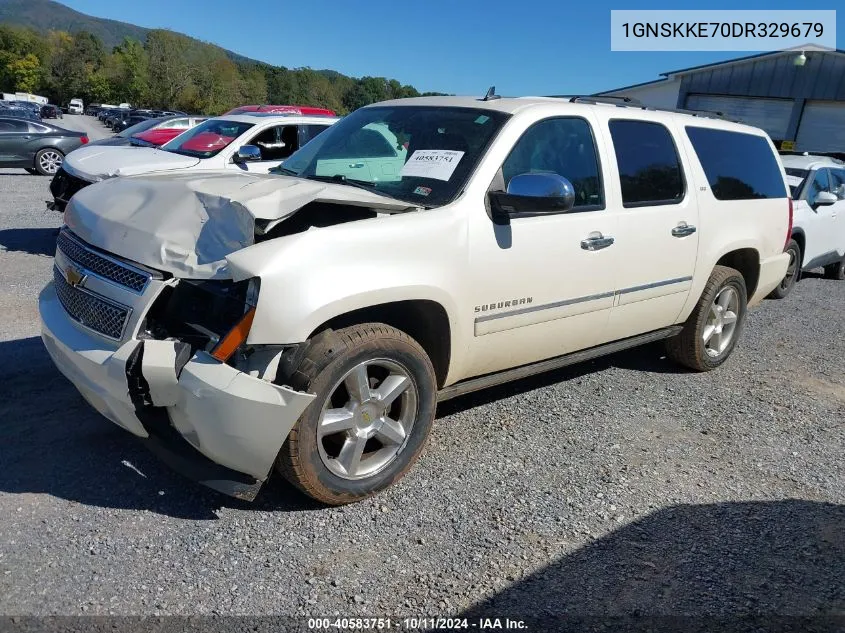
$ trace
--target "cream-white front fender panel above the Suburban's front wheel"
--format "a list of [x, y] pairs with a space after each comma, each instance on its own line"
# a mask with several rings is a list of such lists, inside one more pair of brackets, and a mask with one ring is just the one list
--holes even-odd
[[[446, 208], [358, 220], [280, 237], [227, 257], [235, 280], [261, 279], [247, 342], [306, 340], [330, 319], [407, 300], [440, 304], [452, 353], [467, 335], [457, 297], [465, 296], [465, 222]], [[457, 360], [453, 356], [453, 360]]]

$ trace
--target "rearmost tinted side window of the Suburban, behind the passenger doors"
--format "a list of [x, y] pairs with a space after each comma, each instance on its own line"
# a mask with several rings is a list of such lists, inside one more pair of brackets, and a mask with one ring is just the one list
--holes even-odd
[[702, 127], [686, 130], [717, 200], [786, 197], [778, 159], [764, 137]]

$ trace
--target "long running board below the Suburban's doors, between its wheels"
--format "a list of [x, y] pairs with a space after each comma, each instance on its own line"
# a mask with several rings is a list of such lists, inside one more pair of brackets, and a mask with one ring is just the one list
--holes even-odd
[[568, 365], [582, 363], [594, 358], [599, 358], [600, 356], [615, 354], [616, 352], [621, 352], [622, 350], [626, 350], [631, 347], [637, 347], [638, 345], [653, 343], [664, 338], [675, 336], [682, 329], [683, 326], [681, 325], [672, 325], [670, 327], [663, 328], [662, 330], [654, 330], [653, 332], [647, 332], [646, 334], [640, 334], [638, 336], [624, 338], [619, 341], [613, 341], [612, 343], [598, 345], [597, 347], [591, 347], [579, 352], [572, 352], [571, 354], [564, 354], [563, 356], [555, 356], [554, 358], [541, 360], [537, 363], [531, 363], [530, 365], [522, 365], [520, 367], [515, 367], [514, 369], [506, 369], [504, 371], [496, 372], [495, 374], [487, 374], [485, 376], [479, 376], [478, 378], [470, 378], [468, 380], [455, 383], [454, 385], [444, 387], [438, 391], [437, 401], [443, 402], [444, 400], [450, 400], [451, 398], [456, 398], [457, 396], [462, 396], [473, 391], [479, 391], [480, 389], [495, 387], [496, 385], [501, 385], [502, 383], [527, 378], [535, 374], [542, 374], [543, 372], [560, 369], [561, 367], [566, 367]]

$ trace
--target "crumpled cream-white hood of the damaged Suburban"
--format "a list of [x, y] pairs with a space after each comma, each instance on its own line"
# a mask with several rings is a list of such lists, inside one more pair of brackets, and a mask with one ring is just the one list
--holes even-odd
[[229, 277], [226, 256], [310, 202], [387, 213], [413, 205], [363, 189], [290, 176], [207, 171], [111, 178], [78, 191], [65, 223], [105, 251], [176, 277]]

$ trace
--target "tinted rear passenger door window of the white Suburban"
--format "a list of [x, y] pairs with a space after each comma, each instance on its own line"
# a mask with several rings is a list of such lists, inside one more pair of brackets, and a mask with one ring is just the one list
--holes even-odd
[[608, 124], [619, 168], [622, 206], [676, 204], [684, 197], [684, 177], [669, 130], [650, 121]]

